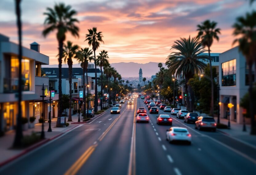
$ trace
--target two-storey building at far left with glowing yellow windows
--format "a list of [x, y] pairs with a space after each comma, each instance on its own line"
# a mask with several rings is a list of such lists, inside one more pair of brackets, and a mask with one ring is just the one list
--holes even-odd
[[[28, 120], [35, 116], [37, 110], [42, 113], [35, 103], [43, 93], [42, 84], [48, 88], [48, 78], [41, 77], [42, 64], [49, 64], [49, 56], [40, 53], [39, 44], [32, 43], [30, 49], [22, 47], [21, 105], [22, 117]], [[0, 131], [12, 130], [17, 124], [18, 65], [18, 44], [0, 34]]]

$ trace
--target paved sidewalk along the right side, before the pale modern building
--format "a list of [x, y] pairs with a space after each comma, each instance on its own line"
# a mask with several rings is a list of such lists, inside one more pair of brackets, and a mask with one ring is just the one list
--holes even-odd
[[[200, 114], [199, 111], [195, 111], [195, 112], [198, 113], [198, 115]], [[202, 113], [201, 116], [207, 116], [207, 114]], [[215, 116], [214, 119], [217, 122], [218, 117]], [[220, 123], [227, 125], [228, 120], [220, 118]], [[251, 126], [246, 125], [246, 131], [242, 131], [242, 130], [243, 130], [243, 125], [238, 124], [234, 121], [230, 121], [230, 129], [217, 129], [217, 131], [223, 134], [226, 134], [229, 137], [239, 140], [240, 142], [243, 142], [247, 145], [252, 145], [256, 147], [256, 135], [250, 135]]]

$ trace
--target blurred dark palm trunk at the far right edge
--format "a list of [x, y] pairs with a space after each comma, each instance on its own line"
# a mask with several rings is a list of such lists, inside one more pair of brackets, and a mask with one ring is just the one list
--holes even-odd
[[248, 64], [249, 66], [249, 101], [250, 101], [250, 106], [249, 106], [249, 109], [250, 109], [250, 118], [251, 118], [251, 134], [252, 135], [256, 135], [256, 128], [255, 128], [255, 119], [254, 119], [254, 104], [253, 104], [253, 101], [254, 101], [254, 97], [253, 97], [253, 92], [252, 92], [252, 88], [253, 88], [253, 85], [252, 85], [252, 64]]

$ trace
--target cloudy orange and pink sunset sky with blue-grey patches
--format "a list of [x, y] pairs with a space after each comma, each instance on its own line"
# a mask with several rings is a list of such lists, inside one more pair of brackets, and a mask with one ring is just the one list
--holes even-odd
[[[59, 2], [71, 5], [80, 21], [79, 38], [68, 33], [66, 41], [89, 47], [85, 34], [97, 27], [104, 44], [96, 54], [107, 50], [110, 63], [165, 62], [174, 41], [195, 37], [196, 25], [207, 19], [218, 22], [221, 29], [220, 40], [214, 41], [211, 51], [224, 52], [235, 46], [232, 25], [236, 17], [256, 9], [256, 3], [250, 6], [249, 0], [22, 0], [23, 45], [39, 43], [50, 64], [57, 64], [58, 43], [56, 31], [42, 36], [43, 13]], [[0, 0], [0, 33], [18, 43], [14, 0]]]

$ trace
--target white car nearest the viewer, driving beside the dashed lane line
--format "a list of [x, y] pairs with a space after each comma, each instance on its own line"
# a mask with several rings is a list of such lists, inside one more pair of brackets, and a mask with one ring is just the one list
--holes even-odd
[[188, 132], [187, 128], [171, 127], [166, 131], [166, 140], [170, 143], [173, 141], [186, 141], [191, 144], [191, 134]]

